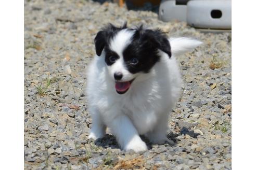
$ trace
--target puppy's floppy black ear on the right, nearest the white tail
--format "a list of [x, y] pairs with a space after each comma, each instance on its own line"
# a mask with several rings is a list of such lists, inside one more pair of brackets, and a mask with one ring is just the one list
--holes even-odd
[[161, 51], [167, 53], [171, 58], [171, 46], [167, 36], [161, 30], [142, 30], [148, 40], [151, 42], [152, 47], [156, 47]]

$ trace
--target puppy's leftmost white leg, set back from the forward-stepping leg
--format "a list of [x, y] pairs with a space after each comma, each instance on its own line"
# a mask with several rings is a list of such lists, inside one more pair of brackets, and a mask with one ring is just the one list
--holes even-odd
[[98, 139], [102, 138], [106, 134], [106, 125], [104, 124], [100, 113], [97, 109], [92, 110], [92, 129], [91, 133], [89, 134], [88, 138]]

